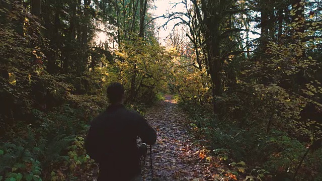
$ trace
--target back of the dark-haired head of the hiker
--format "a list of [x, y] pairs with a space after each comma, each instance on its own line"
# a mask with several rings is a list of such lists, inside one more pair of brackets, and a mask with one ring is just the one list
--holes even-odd
[[123, 85], [119, 82], [111, 83], [107, 87], [107, 98], [110, 100], [111, 104], [123, 104], [125, 89]]

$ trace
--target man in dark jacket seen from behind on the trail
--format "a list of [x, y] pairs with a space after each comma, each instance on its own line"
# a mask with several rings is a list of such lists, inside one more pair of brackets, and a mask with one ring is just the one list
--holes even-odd
[[112, 83], [107, 88], [108, 108], [91, 123], [85, 148], [98, 164], [98, 181], [140, 181], [140, 153], [136, 143], [152, 145], [156, 134], [144, 118], [123, 105], [124, 87]]

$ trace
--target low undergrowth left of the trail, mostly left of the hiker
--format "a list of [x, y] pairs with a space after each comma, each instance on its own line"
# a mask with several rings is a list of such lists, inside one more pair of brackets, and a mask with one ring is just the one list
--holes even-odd
[[[18, 131], [8, 131], [1, 139], [0, 180], [88, 180], [96, 175], [84, 139], [91, 120], [107, 106], [105, 97], [70, 95], [49, 112], [32, 109], [32, 124], [13, 125], [8, 130]], [[148, 107], [125, 106], [141, 114]]]

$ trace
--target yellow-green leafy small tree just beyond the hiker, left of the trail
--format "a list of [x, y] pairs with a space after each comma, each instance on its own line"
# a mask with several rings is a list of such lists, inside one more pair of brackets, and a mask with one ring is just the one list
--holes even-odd
[[165, 84], [168, 53], [155, 41], [141, 39], [124, 42], [117, 55], [120, 79], [129, 89], [130, 101], [152, 103], [158, 90]]

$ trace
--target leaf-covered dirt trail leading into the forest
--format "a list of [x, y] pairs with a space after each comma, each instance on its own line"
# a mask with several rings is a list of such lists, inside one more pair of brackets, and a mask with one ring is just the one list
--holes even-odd
[[[145, 119], [157, 134], [152, 146], [153, 180], [205, 180], [208, 172], [193, 146], [187, 125], [189, 117], [177, 106], [172, 96], [150, 108]], [[142, 168], [143, 180], [151, 180], [149, 151]]]

